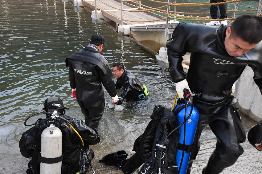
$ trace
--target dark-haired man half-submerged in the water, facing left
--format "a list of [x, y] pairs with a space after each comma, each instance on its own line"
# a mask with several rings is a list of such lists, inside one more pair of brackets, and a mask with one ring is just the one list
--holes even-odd
[[117, 105], [121, 105], [124, 99], [143, 100], [148, 95], [146, 86], [142, 85], [135, 75], [125, 70], [124, 64], [113, 64], [113, 74], [117, 78], [116, 88], [122, 87], [124, 90], [118, 98]]

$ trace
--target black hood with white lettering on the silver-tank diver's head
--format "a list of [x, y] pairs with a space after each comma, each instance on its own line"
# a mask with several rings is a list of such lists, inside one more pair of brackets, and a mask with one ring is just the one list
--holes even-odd
[[64, 110], [64, 104], [62, 100], [58, 97], [48, 97], [45, 101], [45, 106], [44, 110], [46, 112], [53, 113], [54, 110], [57, 111], [57, 114], [63, 115], [63, 110]]

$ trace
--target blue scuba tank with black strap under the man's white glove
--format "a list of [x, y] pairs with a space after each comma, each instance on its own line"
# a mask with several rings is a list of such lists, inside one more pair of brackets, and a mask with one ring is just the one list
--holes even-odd
[[[190, 104], [190, 102], [187, 102], [187, 104]], [[185, 105], [185, 104], [183, 103], [183, 104], [178, 105], [175, 108], [174, 112], [179, 107], [181, 107], [183, 105]], [[186, 118], [189, 116], [190, 110], [191, 110], [191, 106], [187, 106]], [[185, 108], [180, 110], [177, 114], [178, 125], [180, 125], [181, 123], [184, 122], [184, 118], [185, 118]], [[195, 133], [196, 133], [196, 128], [197, 128], [197, 125], [198, 125], [198, 120], [199, 120], [199, 112], [198, 112], [197, 108], [195, 106], [193, 106], [192, 114], [191, 114], [190, 118], [186, 121], [185, 145], [192, 145], [193, 144], [194, 136], [195, 136]], [[184, 124], [182, 126], [180, 126], [180, 128], [179, 128], [178, 143], [180, 143], [182, 145], [184, 143]], [[182, 153], [183, 153], [182, 150], [179, 150], [179, 149], [177, 150], [176, 161], [177, 161], [177, 165], [178, 165], [178, 170], [179, 170], [181, 159], [182, 159]], [[186, 174], [186, 170], [187, 170], [187, 166], [188, 166], [188, 162], [189, 162], [189, 158], [190, 158], [190, 153], [191, 152], [187, 152], [186, 150], [184, 151], [182, 166], [181, 166], [179, 174]]]

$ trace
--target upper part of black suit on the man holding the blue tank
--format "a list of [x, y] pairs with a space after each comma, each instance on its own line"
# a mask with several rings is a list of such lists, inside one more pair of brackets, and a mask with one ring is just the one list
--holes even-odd
[[[254, 81], [262, 93], [262, 41], [248, 53], [229, 56], [224, 45], [227, 26], [207, 26], [181, 23], [173, 33], [168, 48], [169, 71], [174, 82], [186, 79], [192, 92], [200, 92], [194, 105], [202, 114], [216, 114], [226, 108], [232, 86], [249, 66]], [[182, 56], [190, 52], [187, 78]]]

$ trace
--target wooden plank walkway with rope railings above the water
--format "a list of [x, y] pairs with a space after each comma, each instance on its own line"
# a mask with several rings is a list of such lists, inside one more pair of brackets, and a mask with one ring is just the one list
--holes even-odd
[[[118, 0], [96, 0], [96, 5], [100, 8], [97, 10], [101, 10], [103, 16], [107, 17], [108, 19], [121, 24], [121, 10], [117, 10], [113, 7], [110, 7], [103, 2], [109, 4], [110, 6], [113, 6], [115, 8], [121, 9], [121, 2]], [[94, 0], [82, 0], [83, 5], [91, 8], [92, 10], [95, 9], [95, 1]], [[138, 8], [134, 5], [131, 5], [129, 3], [124, 2], [123, 3], [123, 10], [143, 10], [141, 8]], [[113, 15], [113, 16], [112, 16]], [[117, 18], [118, 17], [118, 18]], [[119, 19], [120, 18], [120, 19]], [[135, 25], [135, 24], [145, 24], [152, 23], [152, 20], [158, 20], [162, 19], [163, 17], [157, 14], [154, 14], [149, 11], [145, 12], [129, 12], [129, 11], [123, 11], [123, 19], [129, 20], [129, 21], [123, 21], [124, 25]], [[134, 22], [134, 21], [149, 21], [149, 22]], [[161, 21], [154, 21], [155, 22], [165, 22], [165, 20]]]

